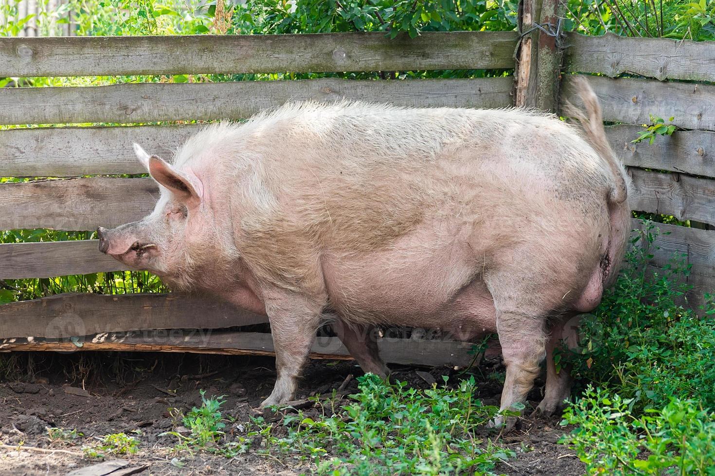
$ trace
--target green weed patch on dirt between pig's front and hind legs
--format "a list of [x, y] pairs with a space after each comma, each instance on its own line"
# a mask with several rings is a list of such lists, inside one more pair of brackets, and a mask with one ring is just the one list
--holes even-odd
[[257, 419], [265, 451], [310, 458], [318, 472], [332, 475], [482, 473], [513, 456], [477, 436], [498, 409], [475, 399], [473, 378], [428, 390], [389, 385], [370, 374], [358, 380], [355, 402], [329, 417], [286, 415], [280, 426], [285, 436], [272, 435], [276, 429]]

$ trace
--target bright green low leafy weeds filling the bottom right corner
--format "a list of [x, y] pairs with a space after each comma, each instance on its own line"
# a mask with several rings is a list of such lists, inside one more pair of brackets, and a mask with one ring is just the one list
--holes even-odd
[[633, 399], [588, 388], [566, 409], [562, 424], [578, 428], [563, 442], [588, 474], [715, 475], [715, 413], [677, 398], [640, 417], [632, 406]]

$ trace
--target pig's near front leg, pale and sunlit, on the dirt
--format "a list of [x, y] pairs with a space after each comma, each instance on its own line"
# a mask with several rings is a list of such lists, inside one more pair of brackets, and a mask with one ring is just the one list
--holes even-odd
[[261, 407], [279, 405], [295, 398], [298, 376], [315, 340], [322, 307], [322, 303], [300, 295], [266, 300], [278, 377], [272, 393], [263, 400]]

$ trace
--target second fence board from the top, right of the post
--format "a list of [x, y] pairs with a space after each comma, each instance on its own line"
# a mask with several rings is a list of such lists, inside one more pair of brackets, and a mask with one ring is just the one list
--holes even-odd
[[[650, 115], [676, 126], [715, 131], [715, 86], [694, 83], [661, 83], [654, 79], [583, 76], [601, 101], [603, 120], [631, 124], [651, 123]], [[573, 87], [573, 75], [563, 76], [561, 107], [566, 101], [581, 106]]]

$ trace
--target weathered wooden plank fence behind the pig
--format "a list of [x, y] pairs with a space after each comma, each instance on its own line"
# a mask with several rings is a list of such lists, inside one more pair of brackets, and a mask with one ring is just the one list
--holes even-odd
[[[541, 18], [548, 16], [541, 12]], [[525, 19], [528, 26], [531, 19]], [[613, 148], [633, 177], [633, 208], [693, 220], [700, 228], [662, 225], [652, 265], [678, 251], [692, 265], [690, 298], [715, 289], [715, 42], [564, 39], [563, 74], [556, 41], [534, 31], [516, 55], [515, 76], [483, 79], [240, 81], [126, 83], [64, 88], [0, 88], [0, 124], [142, 123], [245, 118], [290, 99], [389, 101], [404, 106], [497, 108], [516, 103], [558, 108], [577, 102], [571, 73], [588, 76], [601, 99]], [[0, 39], [0, 77], [129, 74], [270, 73], [275, 71], [404, 71], [514, 69], [516, 32], [425, 33], [417, 39], [384, 34], [179, 36]], [[540, 66], [541, 65], [541, 66]], [[616, 78], [635, 74], [652, 79]], [[553, 80], [549, 80], [552, 78]], [[515, 89], [515, 78], [516, 89]], [[666, 81], [677, 80], [677, 81]], [[684, 82], [689, 81], [689, 82]], [[692, 82], [701, 81], [701, 82]], [[561, 87], [560, 100], [556, 91]], [[516, 91], [516, 93], [515, 93]], [[687, 131], [631, 143], [649, 114], [675, 116]], [[132, 142], [169, 152], [194, 125], [44, 127], [0, 131], [0, 176], [65, 177], [0, 185], [0, 229], [69, 231], [116, 226], [146, 215], [157, 188], [143, 173]], [[93, 176], [73, 178], [76, 176]], [[638, 223], [634, 221], [634, 226]], [[96, 240], [0, 245], [0, 279], [120, 270]], [[202, 316], [202, 330], [196, 316]], [[270, 335], [232, 328], [265, 318], [182, 294], [59, 295], [0, 305], [0, 350], [159, 350], [272, 353]], [[203, 330], [215, 330], [204, 332]], [[80, 336], [83, 343], [69, 340]], [[82, 347], [79, 347], [82, 345]], [[468, 343], [383, 338], [386, 360], [464, 365]], [[349, 358], [336, 338], [319, 338], [315, 356]]]

